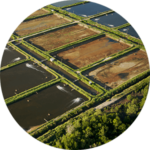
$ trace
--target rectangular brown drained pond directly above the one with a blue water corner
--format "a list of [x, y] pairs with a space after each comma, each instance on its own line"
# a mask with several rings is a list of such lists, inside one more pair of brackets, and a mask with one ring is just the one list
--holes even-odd
[[97, 33], [91, 31], [90, 29], [79, 25], [73, 25], [30, 38], [29, 41], [38, 48], [49, 51], [64, 44], [68, 44], [95, 34]]

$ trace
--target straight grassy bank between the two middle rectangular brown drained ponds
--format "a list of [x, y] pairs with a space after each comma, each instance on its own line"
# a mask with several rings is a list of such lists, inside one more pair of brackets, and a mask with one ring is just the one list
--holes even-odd
[[96, 38], [96, 37], [99, 37], [99, 36], [102, 36], [102, 35], [105, 35], [105, 34], [104, 34], [104, 33], [95, 34], [95, 35], [92, 35], [92, 36], [83, 38], [83, 39], [81, 39], [81, 40], [77, 40], [77, 41], [75, 41], [75, 42], [71, 42], [71, 43], [69, 43], [69, 44], [66, 44], [66, 45], [57, 47], [57, 48], [55, 48], [55, 49], [52, 49], [52, 50], [50, 50], [50, 51], [47, 51], [46, 53], [47, 53], [47, 54], [50, 54], [50, 53], [53, 53], [53, 52], [56, 52], [56, 51], [65, 49], [65, 48], [67, 48], [67, 47], [69, 47], [69, 46], [74, 46], [75, 44], [80, 44], [80, 43], [82, 43], [82, 42], [85, 42], [85, 41], [88, 41], [88, 40], [92, 40], [92, 39], [94, 39], [94, 38]]

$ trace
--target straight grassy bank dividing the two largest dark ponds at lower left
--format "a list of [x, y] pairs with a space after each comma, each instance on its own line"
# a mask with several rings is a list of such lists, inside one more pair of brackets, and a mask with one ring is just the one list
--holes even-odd
[[58, 83], [59, 81], [60, 81], [60, 79], [56, 78], [56, 79], [53, 79], [51, 81], [42, 83], [42, 84], [40, 84], [38, 86], [35, 86], [33, 88], [30, 88], [30, 89], [28, 89], [26, 91], [23, 91], [23, 92], [15, 95], [15, 96], [12, 96], [12, 97], [9, 97], [9, 98], [5, 99], [4, 100], [4, 104], [6, 106], [10, 105], [10, 104], [12, 104], [14, 102], [17, 102], [17, 101], [19, 101], [19, 100], [21, 100], [21, 99], [23, 99], [23, 98], [25, 98], [27, 96], [30, 96], [31, 94], [36, 93], [37, 91], [40, 91], [40, 90], [42, 90], [42, 89], [44, 89], [46, 87], [49, 87], [49, 86], [51, 86], [51, 85], [53, 85], [55, 83]]

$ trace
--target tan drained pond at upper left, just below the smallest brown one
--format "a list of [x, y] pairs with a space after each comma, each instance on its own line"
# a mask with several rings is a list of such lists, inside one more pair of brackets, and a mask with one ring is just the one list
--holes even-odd
[[48, 15], [19, 23], [14, 29], [14, 32], [19, 36], [24, 36], [68, 22], [69, 21], [59, 18], [56, 15]]

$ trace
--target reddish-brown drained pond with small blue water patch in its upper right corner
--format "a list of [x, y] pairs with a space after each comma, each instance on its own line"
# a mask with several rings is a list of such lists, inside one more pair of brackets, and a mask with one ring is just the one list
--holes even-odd
[[128, 47], [126, 44], [105, 36], [79, 47], [60, 52], [57, 56], [67, 60], [77, 68], [81, 68]]

